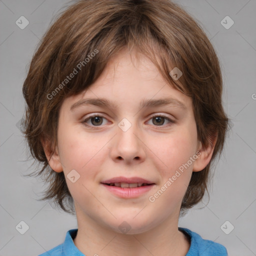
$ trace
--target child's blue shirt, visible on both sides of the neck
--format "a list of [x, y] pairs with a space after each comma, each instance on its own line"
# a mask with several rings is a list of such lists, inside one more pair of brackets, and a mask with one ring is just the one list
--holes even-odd
[[[190, 247], [185, 256], [227, 256], [226, 248], [223, 245], [202, 239], [199, 234], [187, 228], [179, 227], [178, 230], [190, 237]], [[74, 245], [73, 238], [76, 233], [77, 229], [68, 230], [63, 243], [38, 256], [85, 256]]]

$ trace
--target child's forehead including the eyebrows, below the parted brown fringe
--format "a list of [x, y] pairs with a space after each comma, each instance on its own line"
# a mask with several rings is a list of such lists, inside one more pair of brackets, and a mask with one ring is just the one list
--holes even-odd
[[98, 79], [82, 93], [69, 97], [71, 109], [81, 102], [94, 105], [139, 107], [172, 104], [189, 108], [190, 97], [167, 83], [143, 54], [122, 50], [112, 57]]

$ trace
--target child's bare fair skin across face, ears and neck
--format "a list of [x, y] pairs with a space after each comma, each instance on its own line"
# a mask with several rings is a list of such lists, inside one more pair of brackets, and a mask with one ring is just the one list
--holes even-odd
[[[85, 98], [107, 98], [117, 107], [70, 106]], [[172, 97], [176, 105], [139, 106], [142, 99]], [[97, 113], [103, 118], [96, 125]], [[157, 125], [152, 114], [165, 115]], [[118, 123], [126, 118], [131, 127], [123, 131]], [[94, 124], [94, 126], [93, 126]], [[90, 87], [66, 98], [60, 108], [57, 147], [44, 141], [51, 168], [65, 174], [74, 199], [78, 232], [74, 244], [85, 255], [175, 255], [184, 256], [189, 240], [178, 231], [182, 198], [192, 171], [202, 170], [210, 161], [213, 147], [202, 147], [197, 140], [191, 98], [167, 84], [159, 71], [143, 55], [123, 50], [112, 58]], [[215, 141], [213, 142], [213, 146]], [[189, 157], [200, 151], [196, 160], [168, 186], [154, 202], [148, 197], [166, 183]], [[80, 177], [72, 183], [66, 175], [75, 169]], [[116, 176], [139, 176], [156, 183], [137, 198], [120, 198], [100, 181]], [[130, 230], [118, 226], [126, 221]]]

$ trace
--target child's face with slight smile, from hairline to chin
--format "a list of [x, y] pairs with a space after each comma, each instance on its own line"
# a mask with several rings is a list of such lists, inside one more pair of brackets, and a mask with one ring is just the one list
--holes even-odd
[[[79, 221], [95, 221], [120, 232], [118, 226], [126, 221], [131, 227], [129, 233], [140, 233], [168, 221], [176, 223], [192, 170], [200, 169], [191, 98], [166, 84], [148, 59], [134, 64], [123, 51], [108, 62], [85, 93], [68, 97], [61, 105], [58, 155], [52, 159], [58, 159], [61, 165], [50, 163], [55, 171], [64, 171], [78, 226]], [[88, 98], [105, 98], [110, 107], [79, 104], [70, 110], [77, 101]], [[178, 100], [184, 106], [140, 106], [142, 100], [163, 98]], [[92, 114], [102, 117], [88, 118]], [[152, 118], [153, 114], [164, 115], [174, 123], [163, 117]], [[85, 118], [89, 126], [85, 126]], [[73, 169], [80, 175], [75, 182], [67, 178]], [[76, 180], [75, 172], [71, 176]], [[122, 188], [113, 192], [112, 186], [101, 183], [120, 176], [140, 177], [154, 184], [143, 192], [129, 188], [130, 194], [121, 194]], [[138, 194], [134, 195], [132, 189]]]

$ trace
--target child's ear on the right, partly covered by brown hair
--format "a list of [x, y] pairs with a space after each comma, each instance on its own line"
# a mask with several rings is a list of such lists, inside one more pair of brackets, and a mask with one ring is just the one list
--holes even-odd
[[209, 143], [206, 147], [202, 146], [201, 141], [199, 141], [197, 147], [197, 159], [194, 161], [193, 171], [200, 171], [206, 167], [211, 159], [216, 141], [217, 135], [215, 135], [214, 138], [211, 139], [211, 143]]

